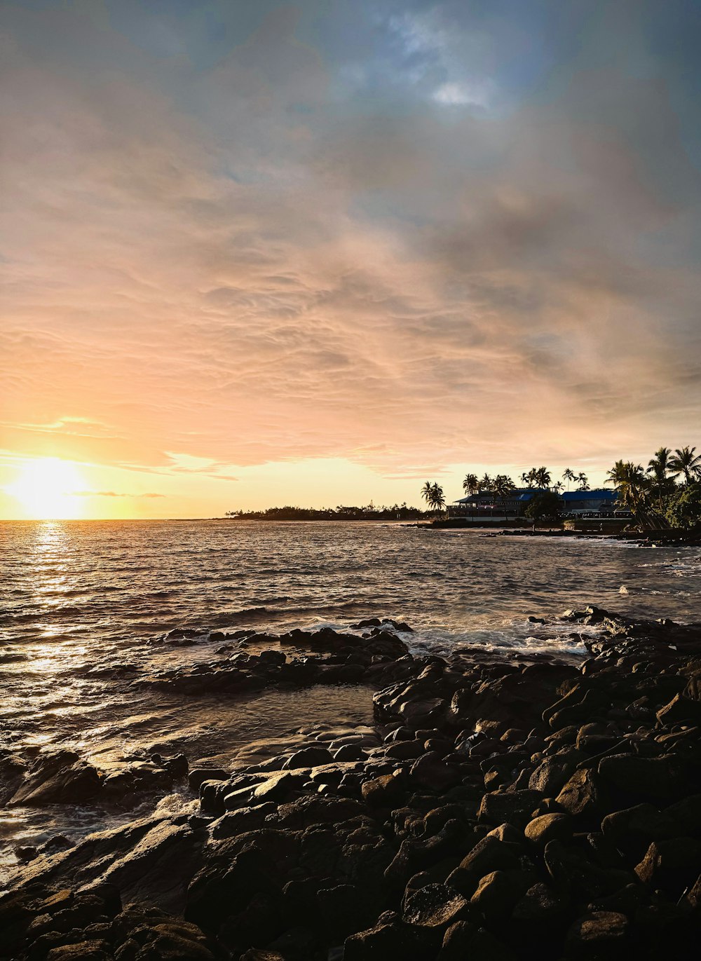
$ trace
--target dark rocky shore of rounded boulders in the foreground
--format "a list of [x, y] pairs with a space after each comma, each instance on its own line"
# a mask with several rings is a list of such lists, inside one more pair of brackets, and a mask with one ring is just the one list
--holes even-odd
[[222, 635], [211, 663], [139, 678], [184, 711], [203, 691], [370, 684], [375, 723], [309, 730], [236, 770], [155, 757], [108, 783], [70, 752], [4, 770], [9, 804], [125, 801], [154, 777], [163, 791], [187, 777], [192, 800], [28, 852], [0, 896], [0, 957], [693, 956], [701, 625], [593, 607], [563, 620], [586, 646], [578, 663], [419, 656], [407, 625], [373, 619]]

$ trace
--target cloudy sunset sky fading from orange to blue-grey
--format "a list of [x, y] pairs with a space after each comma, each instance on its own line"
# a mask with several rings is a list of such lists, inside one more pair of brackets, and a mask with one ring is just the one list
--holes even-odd
[[701, 6], [0, 2], [0, 517], [701, 446]]

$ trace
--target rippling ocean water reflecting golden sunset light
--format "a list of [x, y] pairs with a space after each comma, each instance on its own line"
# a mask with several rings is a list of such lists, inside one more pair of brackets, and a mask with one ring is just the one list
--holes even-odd
[[[371, 696], [346, 687], [186, 699], [134, 686], [153, 670], [216, 657], [210, 631], [347, 628], [380, 616], [409, 623], [416, 652], [580, 656], [557, 620], [567, 607], [701, 620], [699, 554], [363, 523], [4, 523], [0, 752], [27, 761], [68, 747], [107, 770], [183, 751], [226, 767], [252, 742], [293, 743], [300, 727], [367, 723]], [[172, 628], [193, 629], [195, 643], [153, 643]], [[75, 837], [126, 816], [89, 805], [8, 808], [0, 865], [13, 863], [18, 842], [57, 830]]]

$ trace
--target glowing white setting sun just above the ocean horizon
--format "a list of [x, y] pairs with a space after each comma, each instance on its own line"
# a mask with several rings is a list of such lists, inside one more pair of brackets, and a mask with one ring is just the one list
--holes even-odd
[[59, 457], [41, 457], [27, 462], [7, 492], [22, 505], [32, 520], [70, 520], [81, 516], [85, 480], [75, 464]]

